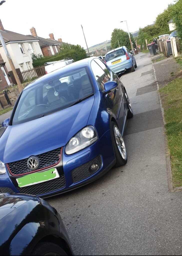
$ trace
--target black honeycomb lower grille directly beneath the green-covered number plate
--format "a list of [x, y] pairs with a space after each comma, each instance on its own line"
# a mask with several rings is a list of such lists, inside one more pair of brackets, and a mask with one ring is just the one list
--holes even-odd
[[55, 191], [59, 188], [63, 188], [66, 185], [65, 182], [65, 175], [61, 175], [59, 178], [48, 180], [46, 182], [38, 183], [35, 185], [31, 186], [26, 186], [17, 189], [19, 190], [20, 193], [23, 194], [30, 194], [30, 195], [41, 195], [45, 194], [51, 191]]

